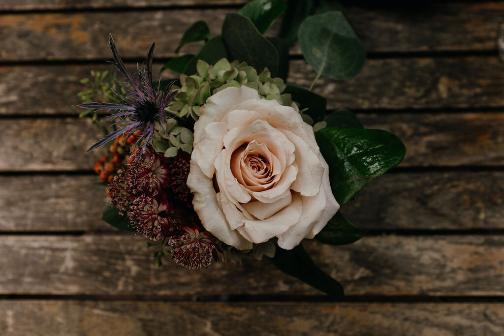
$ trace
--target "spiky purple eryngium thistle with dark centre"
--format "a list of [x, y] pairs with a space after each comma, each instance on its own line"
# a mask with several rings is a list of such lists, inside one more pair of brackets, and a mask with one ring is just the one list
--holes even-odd
[[115, 47], [111, 34], [109, 35], [109, 43], [114, 57], [113, 63], [121, 74], [124, 75], [127, 83], [131, 85], [130, 88], [120, 84], [121, 88], [124, 92], [126, 92], [124, 96], [114, 91], [114, 93], [123, 100], [126, 105], [90, 102], [80, 104], [79, 106], [87, 109], [117, 110], [116, 113], [109, 115], [102, 120], [120, 118], [115, 122], [115, 124], [123, 123], [125, 126], [113, 131], [108, 136], [91, 146], [88, 149], [88, 152], [102, 147], [119, 135], [134, 132], [139, 129], [142, 131], [142, 135], [137, 140], [137, 146], [140, 146], [143, 142], [143, 151], [154, 136], [156, 124], [159, 124], [161, 128], [163, 128], [162, 122], [166, 117], [164, 109], [170, 104], [176, 92], [169, 94], [171, 85], [168, 86], [164, 93], [160, 90], [154, 90], [152, 86], [152, 57], [154, 53], [154, 43], [152, 43], [147, 55], [146, 64], [139, 69], [139, 83], [135, 81], [135, 78], [130, 74], [128, 69], [126, 69], [126, 66], [120, 59], [119, 52]]

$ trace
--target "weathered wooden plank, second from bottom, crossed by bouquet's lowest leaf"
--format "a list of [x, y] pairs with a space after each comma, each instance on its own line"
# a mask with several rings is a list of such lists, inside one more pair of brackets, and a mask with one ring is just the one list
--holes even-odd
[[[347, 246], [307, 241], [347, 295], [501, 296], [504, 236], [369, 236]], [[318, 295], [266, 260], [187, 272], [158, 268], [134, 235], [4, 236], [0, 294]]]

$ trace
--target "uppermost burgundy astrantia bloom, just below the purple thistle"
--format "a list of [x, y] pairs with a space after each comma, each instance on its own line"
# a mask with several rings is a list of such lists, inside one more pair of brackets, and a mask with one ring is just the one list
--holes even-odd
[[136, 193], [157, 195], [169, 182], [166, 163], [164, 155], [156, 153], [152, 146], [147, 146], [144, 151], [135, 149], [126, 166], [127, 184]]

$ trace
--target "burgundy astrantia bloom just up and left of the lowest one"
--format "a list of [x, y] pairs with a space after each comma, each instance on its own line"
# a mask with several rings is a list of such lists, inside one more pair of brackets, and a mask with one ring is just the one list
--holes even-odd
[[128, 212], [128, 219], [137, 232], [155, 241], [164, 239], [178, 228], [184, 217], [183, 211], [173, 208], [166, 197], [147, 195], [135, 198]]

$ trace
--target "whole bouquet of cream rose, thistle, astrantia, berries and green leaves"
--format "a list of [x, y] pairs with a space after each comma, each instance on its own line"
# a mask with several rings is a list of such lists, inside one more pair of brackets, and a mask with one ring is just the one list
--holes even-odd
[[[157, 83], [154, 43], [134, 76], [110, 36], [123, 78], [92, 73], [83, 80], [81, 115], [97, 121], [97, 111], [109, 111], [100, 123], [107, 136], [89, 149], [108, 147], [95, 166], [110, 199], [103, 220], [149, 239], [158, 265], [164, 255], [191, 270], [264, 256], [328, 295], [343, 295], [301, 242], [362, 237], [340, 207], [399, 164], [405, 148], [387, 131], [364, 129], [348, 110], [326, 113], [313, 84], [357, 75], [365, 50], [342, 12], [298, 6], [254, 0], [228, 14], [215, 37], [196, 22], [176, 51], [204, 41], [200, 51], [169, 60], [161, 71], [181, 75]], [[265, 37], [284, 11], [280, 37]], [[306, 89], [286, 85], [297, 38], [316, 71]]]

